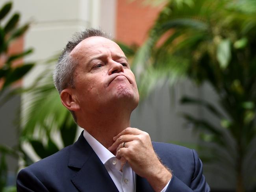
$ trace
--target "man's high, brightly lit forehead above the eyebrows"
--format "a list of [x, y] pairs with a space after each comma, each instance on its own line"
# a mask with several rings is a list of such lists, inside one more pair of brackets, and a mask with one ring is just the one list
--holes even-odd
[[89, 37], [81, 41], [70, 53], [72, 57], [79, 58], [81, 56], [91, 57], [104, 52], [113, 52], [122, 54], [121, 48], [115, 42], [104, 37]]

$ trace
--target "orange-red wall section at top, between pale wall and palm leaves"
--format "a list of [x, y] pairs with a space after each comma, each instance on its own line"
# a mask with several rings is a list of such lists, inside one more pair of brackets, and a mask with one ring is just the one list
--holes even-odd
[[117, 0], [116, 39], [128, 45], [141, 45], [147, 38], [161, 6], [144, 4], [145, 0]]

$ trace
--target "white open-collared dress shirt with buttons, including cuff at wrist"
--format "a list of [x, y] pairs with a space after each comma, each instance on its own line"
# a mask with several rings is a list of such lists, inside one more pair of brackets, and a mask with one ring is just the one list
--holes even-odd
[[[108, 174], [115, 183], [115, 186], [117, 186], [119, 192], [135, 192], [136, 174], [130, 165], [126, 162], [121, 172], [121, 161], [115, 158], [115, 155], [113, 155], [107, 148], [98, 142], [98, 140], [91, 136], [85, 129], [83, 131], [83, 137], [87, 140], [88, 144], [96, 153], [100, 161], [104, 164]], [[167, 183], [161, 192], [165, 192], [169, 183]]]

